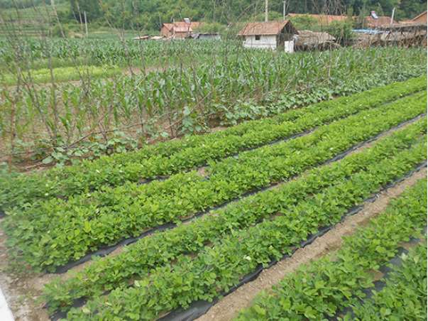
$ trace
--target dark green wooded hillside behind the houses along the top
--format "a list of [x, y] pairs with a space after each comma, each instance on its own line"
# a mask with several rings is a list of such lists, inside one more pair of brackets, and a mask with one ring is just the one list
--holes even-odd
[[[0, 8], [26, 8], [50, 4], [51, 0], [0, 0]], [[63, 22], [82, 21], [85, 11], [89, 22], [125, 29], [158, 30], [162, 23], [189, 17], [193, 21], [229, 24], [261, 18], [264, 0], [55, 0], [70, 5], [62, 14]], [[412, 18], [426, 10], [425, 0], [287, 0], [287, 13], [329, 13], [366, 16], [375, 10], [396, 20]], [[283, 1], [270, 0], [270, 16], [282, 16]]]

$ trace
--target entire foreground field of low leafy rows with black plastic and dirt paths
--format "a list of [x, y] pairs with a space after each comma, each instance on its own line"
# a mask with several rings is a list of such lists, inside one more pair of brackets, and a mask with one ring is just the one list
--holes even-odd
[[[373, 55], [385, 64], [395, 55], [402, 69], [379, 67], [361, 80], [356, 65], [357, 82], [340, 75], [343, 64], [318, 96], [272, 97], [265, 114], [221, 131], [1, 176], [0, 286], [13, 312], [30, 320], [426, 318], [427, 77], [417, 49], [388, 50]], [[314, 56], [300, 58], [315, 65]], [[279, 60], [270, 75], [266, 55], [253, 59], [253, 83], [235, 75], [233, 86], [221, 85], [219, 75], [249, 66], [237, 56], [219, 67], [212, 102], [286, 79]], [[305, 264], [293, 261], [300, 255]]]

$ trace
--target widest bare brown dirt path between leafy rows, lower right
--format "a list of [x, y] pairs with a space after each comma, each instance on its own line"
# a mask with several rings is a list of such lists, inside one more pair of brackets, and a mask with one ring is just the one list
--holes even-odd
[[361, 212], [347, 217], [344, 222], [337, 224], [329, 232], [317, 238], [312, 244], [297, 250], [290, 258], [278, 262], [272, 268], [266, 269], [260, 273], [260, 276], [255, 281], [246, 283], [234, 293], [222, 298], [207, 314], [202, 315], [197, 320], [232, 320], [236, 317], [239, 310], [251, 304], [251, 301], [261, 290], [272, 288], [273, 285], [279, 283], [288, 273], [292, 273], [292, 271], [295, 271], [302, 264], [309, 263], [330, 251], [339, 249], [343, 236], [353, 234], [358, 227], [367, 224], [373, 217], [385, 210], [392, 197], [397, 197], [406, 187], [414, 185], [417, 180], [425, 177], [427, 177], [427, 168], [419, 170], [410, 176], [410, 178], [381, 192], [375, 202], [366, 203]]

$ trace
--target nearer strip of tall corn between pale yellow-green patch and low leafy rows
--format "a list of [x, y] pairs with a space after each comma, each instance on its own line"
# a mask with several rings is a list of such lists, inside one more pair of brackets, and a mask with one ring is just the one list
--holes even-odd
[[[143, 145], [151, 138], [207, 131], [218, 124], [271, 116], [407, 80], [422, 75], [424, 65], [426, 52], [418, 48], [295, 55], [241, 52], [222, 58], [213, 55], [197, 65], [175, 65], [161, 72], [89, 78], [79, 84], [38, 89], [23, 86], [13, 92], [4, 87], [0, 135], [12, 154], [13, 148], [30, 138], [34, 146], [28, 148], [43, 146], [43, 151], [49, 151], [60, 146], [65, 153], [95, 134], [107, 139], [115, 131]], [[22, 77], [24, 82], [31, 81], [31, 72], [23, 72]]]

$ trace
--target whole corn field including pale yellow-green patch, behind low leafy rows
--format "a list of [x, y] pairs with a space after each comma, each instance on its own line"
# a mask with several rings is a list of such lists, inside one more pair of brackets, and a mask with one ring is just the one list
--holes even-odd
[[248, 55], [234, 40], [0, 43], [0, 161], [20, 170], [144, 149], [402, 82], [424, 75], [427, 61], [422, 48], [395, 47]]

